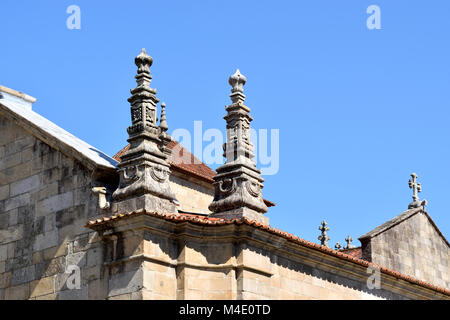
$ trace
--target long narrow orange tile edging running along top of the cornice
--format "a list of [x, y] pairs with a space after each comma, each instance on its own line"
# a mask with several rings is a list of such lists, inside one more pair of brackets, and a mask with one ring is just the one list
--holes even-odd
[[[95, 219], [95, 220], [91, 220], [87, 223], [86, 227], [87, 228], [93, 228], [95, 226], [99, 226], [99, 225], [103, 225], [103, 224], [107, 224], [108, 222], [111, 221], [117, 221], [117, 220], [121, 220], [121, 219], [126, 219], [132, 216], [138, 216], [138, 215], [148, 215], [148, 216], [152, 216], [152, 217], [157, 217], [160, 219], [164, 219], [167, 221], [171, 221], [174, 223], [181, 223], [181, 222], [188, 222], [188, 223], [193, 223], [193, 224], [199, 224], [199, 225], [203, 225], [203, 226], [223, 226], [223, 225], [230, 225], [230, 224], [236, 224], [236, 225], [242, 225], [242, 224], [246, 224], [255, 228], [258, 228], [262, 231], [265, 232], [269, 232], [271, 234], [275, 234], [278, 235], [280, 237], [283, 237], [285, 239], [287, 239], [288, 241], [297, 243], [301, 246], [307, 247], [307, 248], [311, 248], [314, 250], [318, 250], [321, 251], [323, 253], [335, 256], [339, 259], [342, 260], [346, 260], [346, 261], [350, 261], [353, 262], [355, 264], [364, 266], [364, 267], [368, 267], [368, 266], [373, 266], [376, 268], [379, 268], [380, 271], [382, 273], [385, 273], [387, 275], [391, 275], [394, 276], [398, 279], [402, 279], [405, 281], [408, 281], [410, 283], [419, 285], [421, 287], [424, 288], [428, 288], [440, 293], [443, 293], [445, 295], [449, 295], [450, 296], [450, 290], [442, 288], [442, 287], [438, 287], [436, 285], [433, 285], [429, 282], [425, 282], [422, 280], [418, 280], [414, 277], [402, 274], [400, 272], [379, 266], [375, 263], [372, 262], [368, 262], [365, 260], [362, 260], [360, 258], [357, 258], [355, 256], [352, 256], [351, 254], [346, 254], [343, 253], [342, 251], [336, 251], [333, 250], [329, 247], [326, 246], [322, 246], [320, 244], [317, 243], [313, 243], [304, 239], [301, 239], [293, 234], [272, 228], [268, 225], [263, 225], [259, 222], [253, 221], [253, 220], [249, 220], [246, 218], [242, 218], [242, 219], [223, 219], [223, 218], [212, 218], [212, 217], [208, 217], [208, 216], [199, 216], [199, 215], [193, 215], [193, 214], [173, 214], [173, 213], [157, 213], [157, 212], [148, 212], [145, 210], [137, 210], [137, 211], [133, 211], [133, 212], [129, 212], [129, 213], [125, 213], [125, 214], [118, 214], [118, 215], [114, 215], [111, 217], [102, 217], [99, 219]], [[355, 248], [357, 249], [357, 248]], [[352, 249], [353, 250], [353, 249]]]

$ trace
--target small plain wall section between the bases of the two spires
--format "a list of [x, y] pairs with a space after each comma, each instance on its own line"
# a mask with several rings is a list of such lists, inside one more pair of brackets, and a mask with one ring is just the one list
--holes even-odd
[[176, 171], [170, 176], [170, 188], [180, 202], [178, 210], [195, 213], [210, 213], [208, 206], [214, 197], [211, 184], [179, 174]]

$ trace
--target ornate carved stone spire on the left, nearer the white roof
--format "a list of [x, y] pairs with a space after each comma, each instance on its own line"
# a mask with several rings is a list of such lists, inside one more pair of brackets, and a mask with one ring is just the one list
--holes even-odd
[[168, 183], [170, 170], [167, 162], [170, 152], [165, 146], [167, 123], [164, 115], [162, 126], [157, 125], [156, 90], [150, 88], [153, 63], [145, 49], [135, 58], [138, 67], [137, 87], [128, 99], [131, 105], [131, 126], [128, 127], [130, 148], [118, 164], [119, 188], [113, 193], [115, 211], [146, 209], [149, 211], [176, 212], [174, 194]]

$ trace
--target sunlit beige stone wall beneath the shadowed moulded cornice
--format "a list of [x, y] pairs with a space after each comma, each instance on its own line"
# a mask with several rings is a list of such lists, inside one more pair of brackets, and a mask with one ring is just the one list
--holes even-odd
[[[147, 234], [144, 299], [410, 299], [381, 282], [369, 289], [339, 263], [302, 259], [263, 246], [205, 237], [170, 240]], [[170, 251], [172, 253], [170, 253]], [[347, 267], [348, 268], [348, 267]], [[417, 297], [416, 297], [417, 298]]]

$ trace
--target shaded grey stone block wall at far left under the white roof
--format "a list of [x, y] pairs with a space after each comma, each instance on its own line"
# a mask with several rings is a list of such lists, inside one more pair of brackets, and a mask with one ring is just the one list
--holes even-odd
[[[0, 114], [0, 299], [107, 295], [103, 244], [84, 227], [99, 214], [90, 179], [81, 163]], [[81, 286], [69, 290], [74, 266]]]

